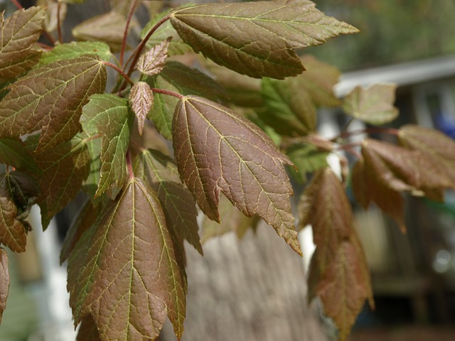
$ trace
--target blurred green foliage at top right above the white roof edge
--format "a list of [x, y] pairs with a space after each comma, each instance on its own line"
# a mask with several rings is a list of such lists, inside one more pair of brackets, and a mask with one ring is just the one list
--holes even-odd
[[343, 71], [455, 53], [455, 1], [315, 2], [327, 15], [361, 31], [306, 50]]

